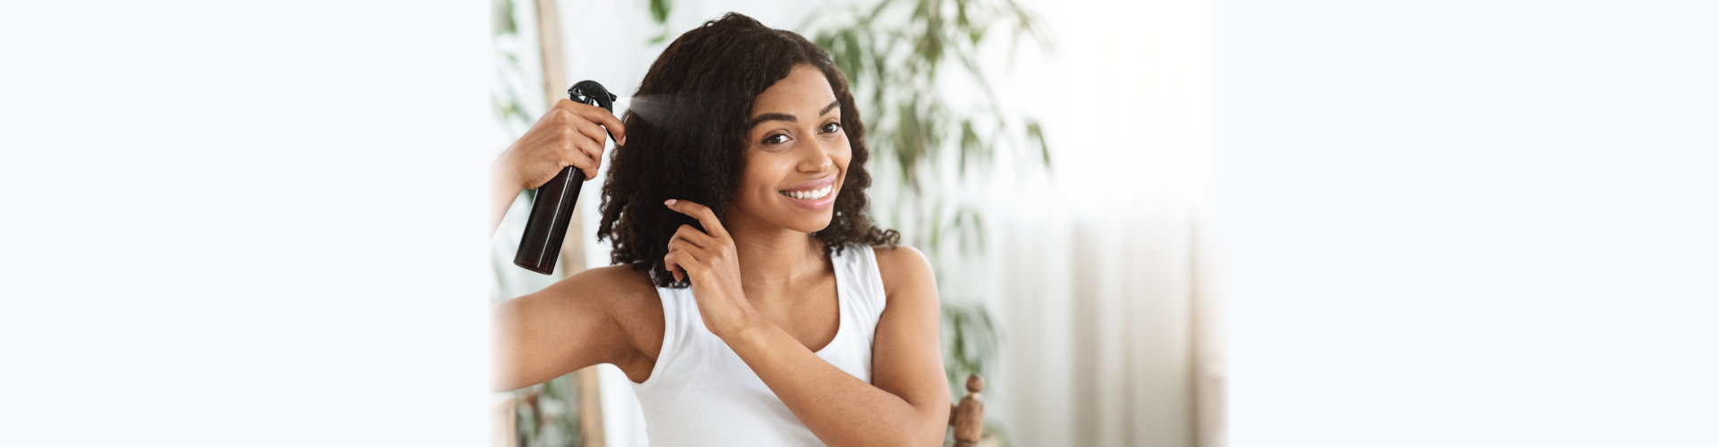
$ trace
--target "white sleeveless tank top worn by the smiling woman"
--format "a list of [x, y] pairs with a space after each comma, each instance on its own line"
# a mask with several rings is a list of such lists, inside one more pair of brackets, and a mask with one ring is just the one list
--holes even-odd
[[[817, 354], [872, 382], [872, 335], [884, 315], [884, 279], [872, 246], [832, 254], [841, 327]], [[823, 445], [777, 399], [734, 349], [705, 328], [693, 289], [657, 287], [662, 352], [643, 383], [631, 383], [645, 411], [650, 445]]]

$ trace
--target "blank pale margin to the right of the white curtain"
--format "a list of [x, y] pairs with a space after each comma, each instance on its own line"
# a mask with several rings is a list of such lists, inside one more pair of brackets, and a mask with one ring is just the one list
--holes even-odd
[[1704, 2], [1220, 2], [1234, 445], [1719, 445]]

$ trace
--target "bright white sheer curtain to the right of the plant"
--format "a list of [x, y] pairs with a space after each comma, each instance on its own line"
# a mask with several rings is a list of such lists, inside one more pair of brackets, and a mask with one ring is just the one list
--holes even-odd
[[1045, 120], [1054, 167], [992, 189], [990, 411], [1016, 445], [1222, 445], [1219, 315], [1195, 294], [1205, 3], [1026, 5], [1055, 55], [1004, 72], [1050, 86], [1025, 112]]

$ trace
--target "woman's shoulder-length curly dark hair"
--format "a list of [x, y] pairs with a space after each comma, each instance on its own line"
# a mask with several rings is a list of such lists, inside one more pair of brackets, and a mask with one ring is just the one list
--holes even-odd
[[847, 77], [830, 53], [806, 38], [770, 29], [729, 12], [681, 34], [657, 57], [622, 115], [627, 144], [615, 146], [603, 181], [602, 224], [596, 239], [610, 239], [610, 261], [650, 272], [657, 287], [688, 287], [664, 266], [669, 239], [681, 225], [705, 230], [698, 220], [676, 213], [664, 201], [691, 199], [727, 215], [729, 199], [746, 170], [746, 120], [753, 98], [787, 77], [796, 65], [813, 65], [830, 81], [841, 101], [842, 131], [853, 158], [835, 198], [830, 225], [811, 236], [823, 254], [849, 244], [896, 246], [901, 234], [878, 229], [866, 215], [865, 189], [872, 174], [865, 162], [865, 124], [847, 91]]

